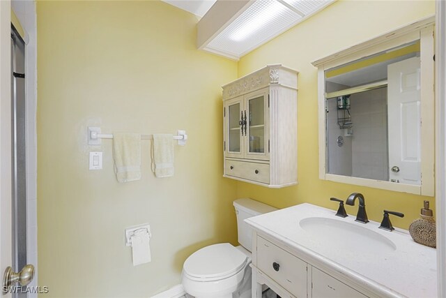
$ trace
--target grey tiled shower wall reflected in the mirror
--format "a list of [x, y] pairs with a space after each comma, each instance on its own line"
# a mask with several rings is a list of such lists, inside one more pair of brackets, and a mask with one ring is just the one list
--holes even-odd
[[327, 100], [328, 172], [388, 180], [387, 88], [353, 94], [350, 101], [353, 135], [346, 135], [337, 125], [336, 98]]

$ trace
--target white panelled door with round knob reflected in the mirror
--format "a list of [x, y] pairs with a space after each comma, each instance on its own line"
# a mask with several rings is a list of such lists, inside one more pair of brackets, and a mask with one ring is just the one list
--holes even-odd
[[390, 181], [421, 184], [420, 57], [387, 66]]

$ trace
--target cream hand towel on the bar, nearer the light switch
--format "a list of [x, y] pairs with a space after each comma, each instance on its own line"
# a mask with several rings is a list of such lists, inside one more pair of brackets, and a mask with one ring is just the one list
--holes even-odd
[[119, 182], [141, 179], [141, 135], [113, 133], [113, 158]]

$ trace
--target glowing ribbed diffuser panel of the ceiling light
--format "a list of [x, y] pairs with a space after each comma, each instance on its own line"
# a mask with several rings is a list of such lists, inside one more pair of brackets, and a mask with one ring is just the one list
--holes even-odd
[[204, 50], [220, 53], [231, 59], [240, 58], [334, 0], [282, 1], [294, 9], [277, 0], [257, 0], [213, 38]]

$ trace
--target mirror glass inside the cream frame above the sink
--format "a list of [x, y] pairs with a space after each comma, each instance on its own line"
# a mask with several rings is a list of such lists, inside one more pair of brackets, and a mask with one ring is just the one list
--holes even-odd
[[420, 42], [325, 71], [327, 172], [420, 185]]

